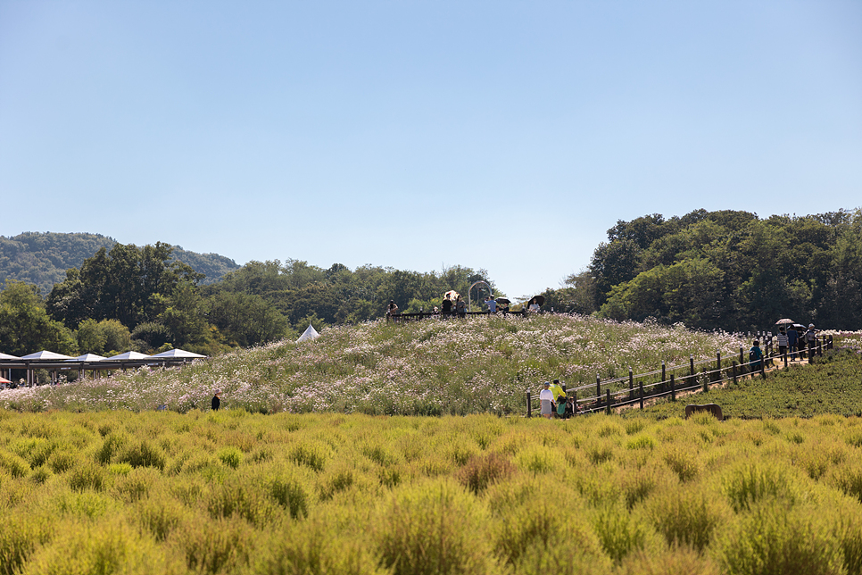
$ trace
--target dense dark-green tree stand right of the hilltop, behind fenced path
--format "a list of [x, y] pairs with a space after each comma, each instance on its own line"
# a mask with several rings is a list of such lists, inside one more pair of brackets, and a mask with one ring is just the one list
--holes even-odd
[[698, 210], [617, 221], [548, 305], [615, 320], [768, 329], [789, 317], [862, 326], [862, 211], [807, 216]]

